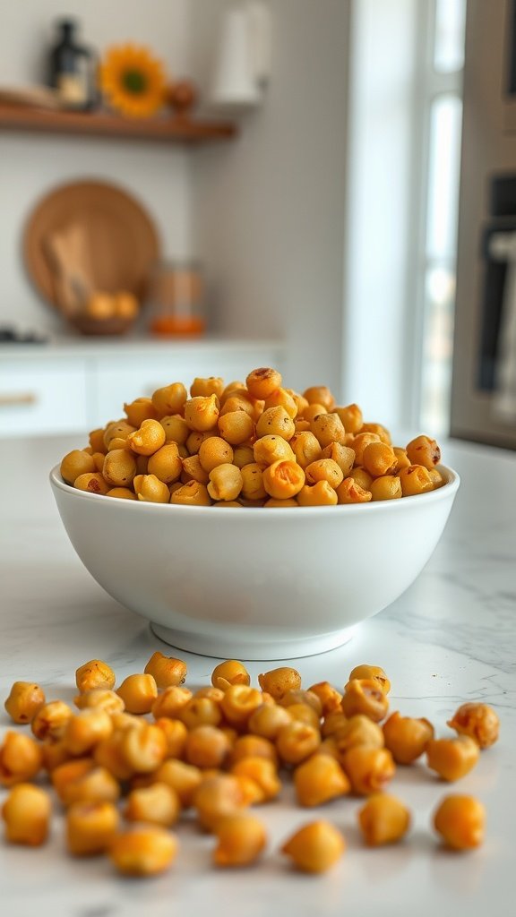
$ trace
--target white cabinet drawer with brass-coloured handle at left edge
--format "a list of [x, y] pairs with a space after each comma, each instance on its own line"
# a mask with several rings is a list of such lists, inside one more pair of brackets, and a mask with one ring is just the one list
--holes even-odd
[[20, 360], [0, 367], [0, 436], [74, 433], [87, 428], [81, 360]]

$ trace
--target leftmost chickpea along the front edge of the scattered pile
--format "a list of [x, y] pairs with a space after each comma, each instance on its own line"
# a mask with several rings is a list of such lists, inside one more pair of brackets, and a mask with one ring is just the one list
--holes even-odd
[[39, 846], [49, 834], [50, 797], [32, 783], [18, 783], [2, 807], [9, 844]]

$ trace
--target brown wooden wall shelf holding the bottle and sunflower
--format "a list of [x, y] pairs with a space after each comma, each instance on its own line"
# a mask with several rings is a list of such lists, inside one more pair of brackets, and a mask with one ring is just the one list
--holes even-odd
[[0, 104], [0, 130], [27, 130], [83, 137], [128, 138], [163, 143], [211, 143], [234, 137], [230, 121], [192, 118], [129, 120], [104, 112], [64, 112], [22, 105]]

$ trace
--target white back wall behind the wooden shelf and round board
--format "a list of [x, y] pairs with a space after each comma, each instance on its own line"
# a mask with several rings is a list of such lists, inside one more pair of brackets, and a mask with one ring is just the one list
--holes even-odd
[[[188, 0], [17, 0], [0, 7], [0, 84], [41, 82], [52, 25], [63, 14], [81, 22], [84, 43], [99, 51], [132, 40], [154, 50], [172, 75], [190, 72]], [[145, 142], [0, 133], [0, 322], [59, 327], [20, 255], [28, 214], [53, 185], [83, 177], [117, 182], [149, 208], [165, 255], [190, 254], [187, 155]]]

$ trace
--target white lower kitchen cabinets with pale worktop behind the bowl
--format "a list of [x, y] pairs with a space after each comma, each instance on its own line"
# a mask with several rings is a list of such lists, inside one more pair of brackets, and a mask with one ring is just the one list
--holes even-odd
[[274, 340], [56, 341], [0, 345], [0, 436], [85, 433], [123, 414], [123, 403], [196, 376], [245, 379], [283, 370]]

